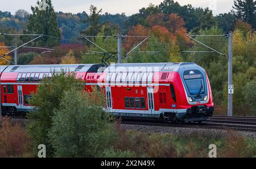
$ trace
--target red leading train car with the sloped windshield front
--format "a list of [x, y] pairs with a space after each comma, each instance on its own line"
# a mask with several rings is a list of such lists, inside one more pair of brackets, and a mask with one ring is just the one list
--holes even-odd
[[122, 118], [201, 122], [214, 111], [207, 73], [194, 63], [114, 64], [86, 82], [104, 87], [106, 111]]

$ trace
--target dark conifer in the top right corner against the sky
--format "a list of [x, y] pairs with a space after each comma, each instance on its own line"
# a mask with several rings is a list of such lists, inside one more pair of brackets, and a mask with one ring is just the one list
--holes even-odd
[[248, 22], [256, 29], [256, 1], [255, 0], [234, 0], [232, 12], [237, 19]]

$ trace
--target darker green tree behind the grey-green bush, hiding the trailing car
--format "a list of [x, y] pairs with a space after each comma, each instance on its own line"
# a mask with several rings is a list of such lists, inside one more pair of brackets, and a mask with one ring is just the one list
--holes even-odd
[[44, 78], [36, 93], [32, 95], [32, 100], [29, 100], [31, 105], [36, 106], [36, 109], [28, 115], [30, 123], [27, 125], [35, 154], [38, 152], [38, 145], [44, 144], [47, 147], [47, 157], [52, 157], [54, 151], [48, 133], [52, 126], [53, 112], [59, 109], [65, 91], [74, 87], [82, 91], [82, 85], [75, 78], [75, 74], [66, 75], [65, 71], [56, 73], [53, 70], [52, 79]]

